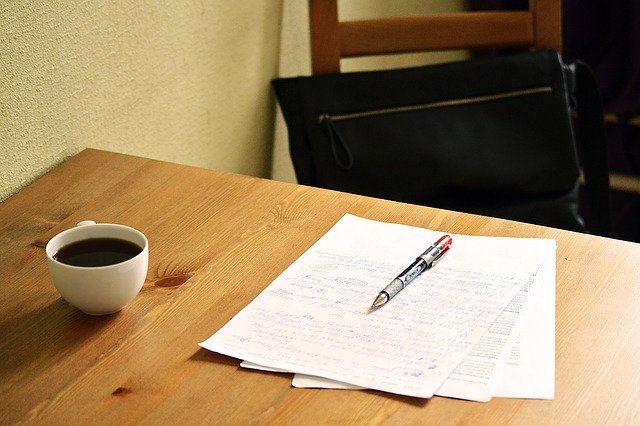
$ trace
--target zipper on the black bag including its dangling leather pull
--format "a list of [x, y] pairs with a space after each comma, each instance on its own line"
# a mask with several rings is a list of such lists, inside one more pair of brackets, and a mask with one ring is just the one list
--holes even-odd
[[497, 101], [502, 99], [516, 98], [520, 96], [536, 95], [540, 93], [550, 93], [553, 91], [551, 86], [533, 87], [530, 89], [512, 90], [509, 92], [496, 93], [485, 96], [475, 96], [470, 98], [449, 99], [445, 101], [435, 101], [416, 105], [405, 105], [392, 108], [380, 108], [368, 111], [351, 112], [345, 114], [320, 114], [317, 117], [318, 124], [324, 125], [329, 142], [331, 144], [331, 151], [333, 158], [336, 161], [338, 167], [342, 170], [350, 170], [353, 167], [353, 154], [349, 149], [349, 146], [344, 142], [344, 138], [340, 135], [338, 128], [335, 126], [335, 121], [351, 120], [364, 117], [372, 117], [376, 115], [392, 114], [397, 112], [412, 112], [421, 111], [433, 108], [451, 107], [458, 105], [471, 105], [481, 102]]

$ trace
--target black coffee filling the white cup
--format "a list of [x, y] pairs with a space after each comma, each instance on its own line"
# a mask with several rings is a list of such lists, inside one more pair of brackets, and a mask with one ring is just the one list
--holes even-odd
[[135, 257], [142, 247], [118, 238], [89, 238], [62, 247], [53, 258], [73, 266], [107, 266]]

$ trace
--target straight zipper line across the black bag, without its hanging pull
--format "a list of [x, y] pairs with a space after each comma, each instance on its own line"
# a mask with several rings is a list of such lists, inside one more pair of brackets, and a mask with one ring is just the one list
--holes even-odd
[[320, 114], [318, 115], [318, 123], [322, 123], [325, 120], [333, 120], [333, 121], [350, 120], [354, 118], [371, 117], [374, 115], [392, 114], [395, 112], [411, 112], [411, 111], [420, 111], [423, 109], [442, 108], [442, 107], [458, 106], [458, 105], [470, 105], [470, 104], [476, 104], [480, 102], [490, 102], [490, 101], [497, 101], [501, 99], [516, 98], [519, 96], [529, 96], [529, 95], [536, 95], [539, 93], [549, 93], [552, 91], [553, 91], [553, 88], [551, 86], [541, 86], [541, 87], [533, 87], [530, 89], [512, 90], [509, 92], [496, 93], [493, 95], [475, 96], [471, 98], [461, 98], [461, 99], [449, 99], [445, 101], [435, 101], [435, 102], [428, 102], [424, 104], [405, 105], [405, 106], [392, 107], [392, 108], [380, 108], [380, 109], [351, 112], [351, 113], [345, 113], [345, 114]]

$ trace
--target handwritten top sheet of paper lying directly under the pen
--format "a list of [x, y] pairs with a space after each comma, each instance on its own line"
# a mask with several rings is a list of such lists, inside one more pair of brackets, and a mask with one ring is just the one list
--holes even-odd
[[453, 236], [437, 267], [372, 299], [440, 233], [347, 215], [207, 349], [286, 371], [430, 397], [545, 257], [550, 240]]

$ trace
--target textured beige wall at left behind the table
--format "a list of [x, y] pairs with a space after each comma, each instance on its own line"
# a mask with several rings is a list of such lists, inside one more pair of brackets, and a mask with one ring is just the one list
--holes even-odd
[[0, 200], [85, 147], [268, 176], [280, 8], [0, 2]]

